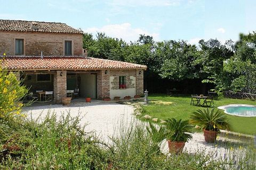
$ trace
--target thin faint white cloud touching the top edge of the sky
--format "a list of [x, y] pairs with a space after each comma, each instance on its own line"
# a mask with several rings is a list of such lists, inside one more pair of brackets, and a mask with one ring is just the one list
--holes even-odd
[[179, 5], [180, 0], [109, 0], [108, 4], [118, 6], [174, 6]]

